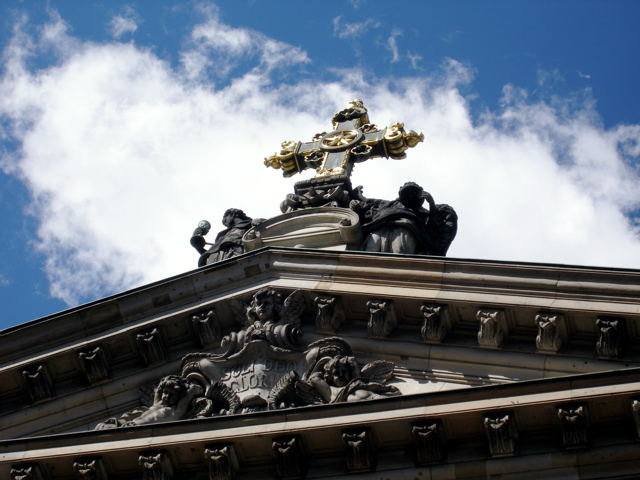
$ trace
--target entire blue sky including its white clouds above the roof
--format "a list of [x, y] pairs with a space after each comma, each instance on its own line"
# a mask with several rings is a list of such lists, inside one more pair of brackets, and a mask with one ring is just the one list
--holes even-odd
[[0, 5], [0, 328], [192, 269], [228, 207], [279, 213], [262, 158], [360, 97], [423, 131], [359, 165], [460, 215], [455, 257], [640, 268], [640, 4]]

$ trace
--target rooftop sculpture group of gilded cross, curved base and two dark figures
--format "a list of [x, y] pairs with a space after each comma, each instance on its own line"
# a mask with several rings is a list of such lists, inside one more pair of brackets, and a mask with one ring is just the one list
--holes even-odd
[[[204, 239], [209, 222], [200, 222], [191, 237], [191, 244], [201, 254], [199, 266], [267, 245], [446, 255], [458, 227], [458, 216], [451, 206], [436, 204], [432, 195], [414, 182], [402, 185], [395, 200], [381, 200], [364, 197], [363, 187], [352, 188], [350, 180], [356, 163], [375, 157], [405, 158], [406, 150], [424, 141], [424, 136], [405, 130], [402, 123], [386, 128], [370, 123], [361, 100], [349, 102], [334, 115], [332, 124], [333, 130], [317, 133], [308, 142], [283, 142], [279, 152], [265, 159], [266, 166], [282, 170], [285, 177], [307, 169], [316, 171], [314, 178], [297, 182], [294, 192], [282, 201], [283, 215], [260, 226], [262, 220], [252, 221], [241, 210], [229, 209], [223, 218], [226, 229], [213, 244]], [[313, 227], [316, 220], [324, 228], [324, 211], [335, 214], [339, 240], [337, 234], [309, 238], [300, 233]], [[357, 214], [357, 225], [348, 211]], [[351, 227], [350, 232], [341, 228], [345, 226]]]

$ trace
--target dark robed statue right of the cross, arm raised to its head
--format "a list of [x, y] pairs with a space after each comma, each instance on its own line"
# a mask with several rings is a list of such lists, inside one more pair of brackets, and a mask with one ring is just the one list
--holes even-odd
[[[420, 185], [407, 182], [395, 200], [369, 199], [362, 187], [350, 203], [363, 225], [362, 250], [423, 255], [446, 255], [456, 236], [458, 216], [449, 205], [433, 201]], [[423, 207], [427, 201], [429, 209]]]

